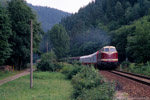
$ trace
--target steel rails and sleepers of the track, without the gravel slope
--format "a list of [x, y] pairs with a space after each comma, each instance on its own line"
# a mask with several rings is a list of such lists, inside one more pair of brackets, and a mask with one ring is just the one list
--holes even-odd
[[139, 75], [139, 74], [133, 74], [129, 72], [124, 72], [124, 71], [118, 71], [118, 70], [113, 70], [110, 72], [150, 86], [150, 77]]

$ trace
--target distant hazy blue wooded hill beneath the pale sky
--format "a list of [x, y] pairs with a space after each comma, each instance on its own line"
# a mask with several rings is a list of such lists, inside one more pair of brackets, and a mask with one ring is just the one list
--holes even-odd
[[62, 18], [69, 16], [67, 12], [58, 9], [42, 6], [33, 6], [28, 4], [37, 14], [39, 22], [42, 24], [42, 29], [47, 32], [53, 25], [58, 24]]

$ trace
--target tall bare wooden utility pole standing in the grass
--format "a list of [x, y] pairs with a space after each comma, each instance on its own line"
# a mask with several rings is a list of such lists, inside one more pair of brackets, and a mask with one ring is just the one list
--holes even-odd
[[31, 47], [30, 47], [30, 88], [33, 87], [33, 29], [32, 29], [32, 20], [31, 20]]

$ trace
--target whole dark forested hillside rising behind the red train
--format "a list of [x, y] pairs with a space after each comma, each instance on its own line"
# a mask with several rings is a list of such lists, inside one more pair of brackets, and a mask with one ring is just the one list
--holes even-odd
[[95, 0], [60, 24], [70, 36], [72, 56], [114, 45], [120, 62], [150, 60], [150, 0]]

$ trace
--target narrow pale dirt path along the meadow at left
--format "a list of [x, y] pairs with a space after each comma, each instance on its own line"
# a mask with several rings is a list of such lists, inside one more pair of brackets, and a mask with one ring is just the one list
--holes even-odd
[[16, 75], [8, 77], [8, 78], [5, 78], [3, 80], [0, 80], [0, 85], [2, 85], [4, 83], [7, 83], [9, 81], [13, 81], [13, 80], [15, 80], [15, 79], [17, 79], [19, 77], [22, 77], [22, 76], [25, 76], [25, 75], [28, 75], [28, 74], [30, 74], [30, 69], [26, 69], [26, 70], [22, 71], [19, 74], [16, 74]]

